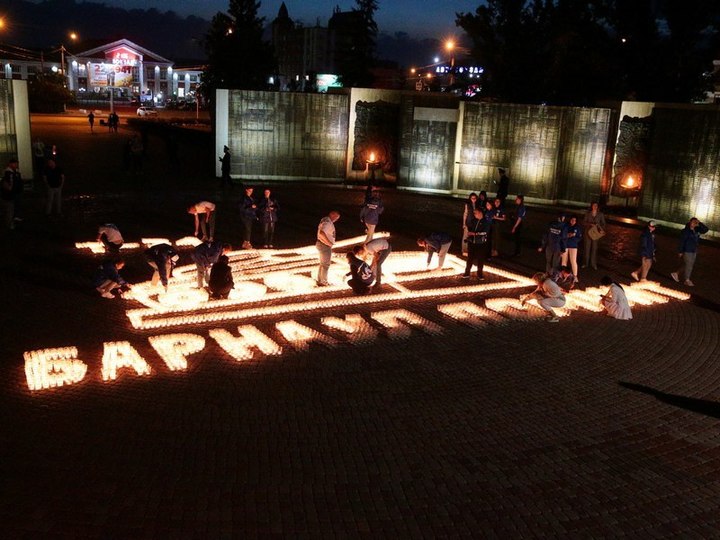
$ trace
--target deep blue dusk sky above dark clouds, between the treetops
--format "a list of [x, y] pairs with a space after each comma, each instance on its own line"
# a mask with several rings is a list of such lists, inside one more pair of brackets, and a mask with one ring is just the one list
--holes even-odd
[[[218, 11], [226, 11], [227, 0], [98, 0], [107, 6], [125, 9], [157, 8], [160, 11], [175, 11], [178, 15], [197, 15], [211, 19]], [[407, 32], [413, 37], [449, 37], [460, 32], [455, 26], [456, 12], [474, 12], [482, 0], [378, 0], [379, 9], [375, 14], [380, 32], [393, 34]], [[282, 0], [263, 0], [260, 15], [266, 22], [272, 21]], [[306, 26], [314, 25], [320, 19], [327, 25], [332, 10], [339, 6], [349, 11], [355, 6], [354, 0], [285, 0], [290, 17], [302, 21]]]

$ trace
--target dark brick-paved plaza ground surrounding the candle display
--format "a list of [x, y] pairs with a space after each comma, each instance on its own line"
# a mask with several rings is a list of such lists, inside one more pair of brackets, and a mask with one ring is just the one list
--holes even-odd
[[[47, 220], [38, 190], [25, 200], [25, 221], [0, 241], [4, 538], [720, 534], [716, 246], [701, 246], [697, 286], [688, 289], [669, 278], [678, 231], [658, 231], [651, 279], [692, 296], [635, 306], [631, 321], [581, 309], [551, 325], [533, 312], [488, 309], [493, 298], [529, 290], [518, 283], [137, 329], [126, 311], [142, 306], [98, 297], [91, 278], [101, 255], [74, 244], [94, 240], [101, 221], [117, 223], [128, 242], [188, 236], [185, 208], [209, 199], [218, 205], [216, 237], [239, 245], [240, 190], [219, 189], [205, 172], [216, 157], [187, 141], [171, 161], [151, 137], [143, 172], [125, 172], [125, 122], [117, 135], [91, 136], [76, 120], [33, 118], [33, 135], [61, 152], [65, 216]], [[361, 189], [272, 187], [281, 204], [277, 248], [312, 246], [331, 209], [342, 214], [339, 239], [362, 233]], [[383, 199], [379, 229], [390, 231], [395, 251], [445, 230], [459, 255], [462, 201], [390, 188]], [[544, 267], [533, 248], [552, 209], [529, 215], [524, 253], [493, 261], [501, 271], [530, 276]], [[629, 284], [639, 234], [638, 225], [613, 221], [600, 268], [582, 271], [581, 287], [597, 287], [605, 274]], [[181, 250], [181, 264], [188, 254]], [[126, 258], [129, 281], [150, 278], [141, 250]], [[467, 285], [457, 275], [428, 283]], [[349, 289], [334, 297], [342, 295]], [[438, 309], [460, 302], [485, 315], [460, 321]], [[392, 310], [422, 322], [388, 329], [378, 313]], [[361, 316], [366, 340], [322, 322], [346, 315]], [[277, 326], [288, 320], [334, 346], [293, 345]], [[237, 335], [239, 324], [282, 354], [233, 359], [211, 331]], [[186, 370], [171, 371], [148, 338], [177, 332], [202, 336], [205, 346]], [[103, 381], [104, 344], [123, 341], [151, 373], [124, 368]], [[23, 353], [67, 346], [87, 364], [84, 379], [30, 391]]]

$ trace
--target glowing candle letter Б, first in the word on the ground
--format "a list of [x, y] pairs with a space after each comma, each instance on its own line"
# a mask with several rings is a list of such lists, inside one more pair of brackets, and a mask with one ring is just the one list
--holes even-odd
[[28, 351], [24, 356], [25, 378], [30, 390], [75, 384], [82, 381], [87, 372], [87, 364], [78, 360], [76, 347]]

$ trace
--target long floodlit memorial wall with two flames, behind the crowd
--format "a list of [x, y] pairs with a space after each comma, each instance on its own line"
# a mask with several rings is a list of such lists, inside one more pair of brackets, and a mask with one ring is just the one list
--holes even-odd
[[[372, 174], [401, 189], [465, 196], [494, 194], [503, 167], [510, 195], [531, 202], [584, 206], [611, 196], [642, 217], [680, 226], [695, 215], [720, 228], [716, 107], [627, 102], [618, 114], [368, 89], [220, 90], [217, 103], [217, 155], [230, 147], [235, 178], [362, 183]], [[639, 155], [640, 135], [628, 131], [637, 119], [623, 111], [649, 126], [638, 131]]]

